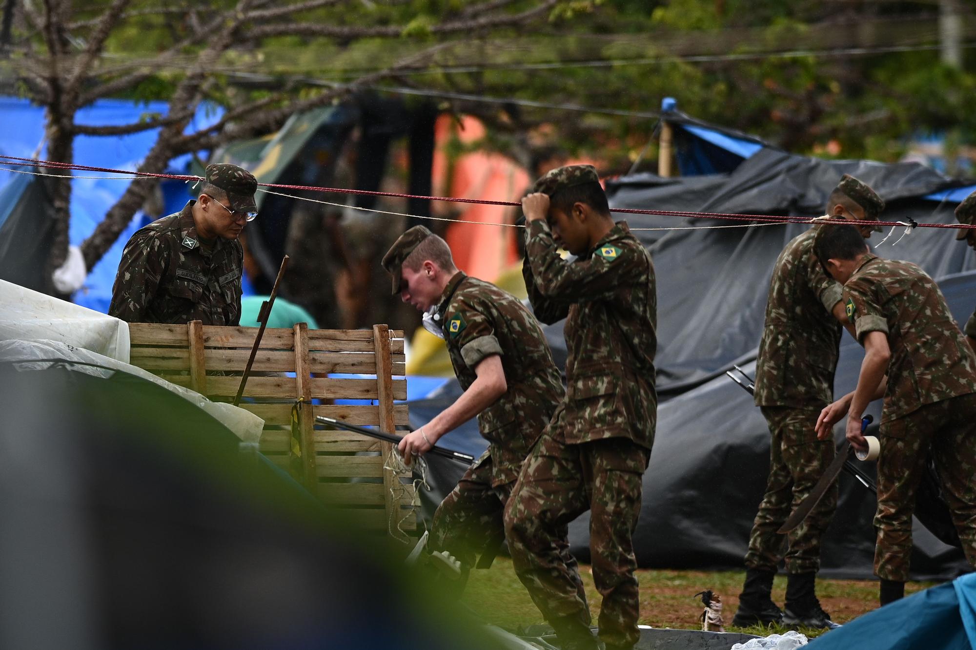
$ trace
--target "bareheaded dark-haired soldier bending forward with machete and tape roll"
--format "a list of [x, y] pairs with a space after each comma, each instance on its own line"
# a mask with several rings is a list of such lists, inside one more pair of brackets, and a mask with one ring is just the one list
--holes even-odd
[[915, 490], [931, 454], [962, 550], [976, 566], [976, 353], [939, 286], [915, 264], [872, 255], [850, 226], [824, 226], [817, 255], [844, 283], [843, 301], [865, 347], [858, 386], [821, 414], [829, 437], [847, 414], [847, 439], [867, 449], [860, 421], [884, 396], [874, 574], [884, 605], [905, 592]]

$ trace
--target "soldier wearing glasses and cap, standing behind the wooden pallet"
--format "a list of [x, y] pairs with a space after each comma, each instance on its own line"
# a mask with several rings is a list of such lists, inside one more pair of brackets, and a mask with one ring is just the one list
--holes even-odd
[[197, 200], [129, 239], [109, 315], [129, 322], [237, 325], [244, 261], [237, 237], [258, 215], [257, 189], [246, 170], [209, 165]]

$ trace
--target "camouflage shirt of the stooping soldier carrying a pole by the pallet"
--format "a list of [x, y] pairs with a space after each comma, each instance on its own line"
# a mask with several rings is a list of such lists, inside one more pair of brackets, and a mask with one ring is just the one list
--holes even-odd
[[542, 327], [514, 296], [458, 272], [437, 309], [458, 382], [465, 390], [486, 357], [502, 358], [508, 389], [478, 415], [489, 442], [492, 486], [512, 483], [563, 396]]

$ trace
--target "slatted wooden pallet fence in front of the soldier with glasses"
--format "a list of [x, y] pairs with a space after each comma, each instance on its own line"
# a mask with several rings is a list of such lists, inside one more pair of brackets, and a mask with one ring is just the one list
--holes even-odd
[[[211, 399], [232, 401], [258, 333], [256, 327], [130, 323], [133, 365]], [[327, 430], [329, 416], [392, 431], [408, 425], [403, 332], [264, 330], [240, 404], [264, 420], [261, 451], [319, 498], [346, 508], [365, 528], [405, 540], [416, 530], [410, 475], [384, 468], [391, 446], [358, 433]], [[294, 373], [290, 377], [288, 373]], [[335, 378], [330, 374], [366, 375]], [[397, 379], [399, 378], [399, 379]], [[334, 400], [364, 400], [335, 404]], [[293, 407], [299, 436], [293, 440]]]

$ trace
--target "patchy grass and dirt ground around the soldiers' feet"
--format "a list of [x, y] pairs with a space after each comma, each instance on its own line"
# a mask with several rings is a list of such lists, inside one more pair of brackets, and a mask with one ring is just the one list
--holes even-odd
[[[588, 565], [580, 566], [583, 582], [587, 587], [590, 612], [595, 625], [599, 614], [600, 595], [593, 588], [593, 577]], [[695, 593], [712, 589], [722, 598], [722, 614], [731, 622], [739, 606], [744, 571], [665, 571], [640, 570], [640, 623], [654, 628], [700, 630], [699, 616], [702, 603]], [[935, 583], [909, 583], [906, 594], [931, 587]], [[786, 592], [786, 576], [777, 576], [773, 584], [773, 600], [783, 604]], [[817, 595], [821, 605], [831, 613], [836, 623], [846, 623], [877, 606], [877, 583], [860, 580], [818, 580]], [[545, 623], [528, 593], [518, 582], [508, 557], [498, 557], [488, 571], [472, 571], [465, 590], [464, 601], [488, 623], [515, 630], [524, 626]], [[726, 631], [743, 631], [752, 634], [771, 634], [781, 629], [730, 628]], [[808, 637], [817, 636], [822, 630], [799, 630]]]

